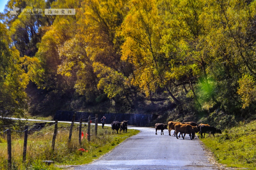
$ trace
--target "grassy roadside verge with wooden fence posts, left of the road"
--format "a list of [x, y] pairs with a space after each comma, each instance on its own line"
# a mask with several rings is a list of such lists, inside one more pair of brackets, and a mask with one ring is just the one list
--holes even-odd
[[[23, 132], [12, 131], [12, 169], [15, 170], [58, 170], [60, 165], [81, 165], [97, 159], [109, 152], [126, 138], [139, 131], [128, 129], [127, 133], [116, 134], [111, 127], [99, 126], [98, 135], [94, 135], [94, 126], [91, 126], [91, 142], [85, 139], [87, 126], [82, 128], [84, 138], [81, 145], [78, 142], [77, 125], [74, 125], [71, 142], [68, 143], [70, 124], [58, 123], [58, 134], [55, 141], [54, 152], [51, 149], [54, 126], [45, 124], [40, 131], [30, 131], [28, 134], [26, 163], [22, 163]], [[33, 127], [30, 127], [33, 129]], [[78, 151], [83, 148], [85, 152]], [[87, 151], [87, 152], [86, 152]], [[53, 160], [54, 165], [47, 166], [42, 161]], [[0, 169], [7, 169], [7, 141], [6, 135], [0, 136]]]

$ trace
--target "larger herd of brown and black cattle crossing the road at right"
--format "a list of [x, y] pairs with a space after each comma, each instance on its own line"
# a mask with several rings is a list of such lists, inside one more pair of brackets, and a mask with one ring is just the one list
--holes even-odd
[[[186, 134], [189, 134], [191, 140], [195, 138], [195, 134], [197, 132], [199, 132], [198, 138], [200, 135], [201, 135], [201, 138], [203, 138], [203, 133], [204, 133], [204, 137], [205, 137], [205, 133], [212, 134], [213, 136], [215, 133], [221, 134], [220, 129], [210, 126], [209, 124], [199, 124], [198, 125], [195, 122], [180, 123], [180, 122], [170, 121], [170, 122], [168, 122], [168, 124], [156, 124], [155, 125], [156, 135], [157, 135], [157, 130], [161, 130], [161, 135], [162, 135], [162, 133], [164, 135], [164, 129], [167, 129], [167, 125], [168, 125], [169, 135], [171, 136], [171, 130], [174, 130], [174, 133], [172, 135], [176, 136], [177, 139], [178, 139], [179, 132], [183, 139]], [[183, 134], [184, 134], [184, 136], [183, 136]], [[179, 135], [179, 138], [180, 138], [180, 135]]]

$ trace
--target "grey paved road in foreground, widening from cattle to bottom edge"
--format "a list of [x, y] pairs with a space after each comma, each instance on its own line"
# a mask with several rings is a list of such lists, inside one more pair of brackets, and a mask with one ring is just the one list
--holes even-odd
[[[129, 127], [141, 132], [126, 139], [108, 154], [91, 164], [71, 166], [74, 170], [92, 169], [214, 169], [209, 162], [199, 139], [190, 140], [164, 135], [155, 135], [154, 128]], [[173, 133], [173, 131], [172, 131]]]

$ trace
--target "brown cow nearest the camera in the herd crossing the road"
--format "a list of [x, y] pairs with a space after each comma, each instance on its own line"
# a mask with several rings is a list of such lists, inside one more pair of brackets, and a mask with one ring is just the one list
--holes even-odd
[[176, 134], [177, 139], [179, 139], [178, 133], [180, 132], [181, 134], [184, 133], [183, 139], [184, 139], [185, 135], [188, 133], [190, 136], [190, 139], [192, 140], [191, 133], [192, 132], [196, 133], [198, 131], [196, 126], [191, 126], [190, 124], [175, 124], [174, 128], [175, 128], [175, 134]]

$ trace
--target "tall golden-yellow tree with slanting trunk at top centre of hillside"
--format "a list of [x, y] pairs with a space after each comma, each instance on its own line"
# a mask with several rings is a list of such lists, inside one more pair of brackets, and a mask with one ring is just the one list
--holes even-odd
[[172, 82], [166, 81], [169, 61], [161, 51], [164, 22], [157, 9], [157, 1], [132, 1], [131, 10], [126, 16], [120, 31], [124, 37], [122, 60], [133, 65], [131, 83], [146, 97], [157, 88], [164, 88], [174, 102], [180, 101], [172, 94]]

